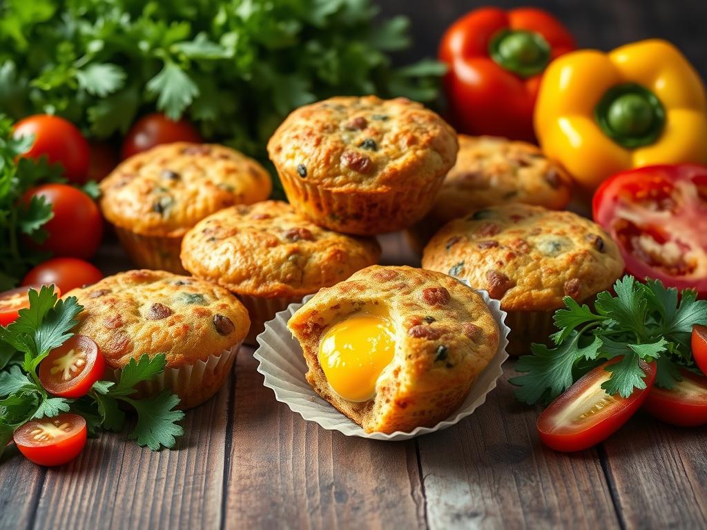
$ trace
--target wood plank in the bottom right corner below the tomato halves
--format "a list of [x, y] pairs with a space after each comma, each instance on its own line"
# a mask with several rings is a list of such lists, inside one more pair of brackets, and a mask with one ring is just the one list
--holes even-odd
[[604, 442], [626, 528], [707, 528], [707, 427], [676, 428], [638, 413]]

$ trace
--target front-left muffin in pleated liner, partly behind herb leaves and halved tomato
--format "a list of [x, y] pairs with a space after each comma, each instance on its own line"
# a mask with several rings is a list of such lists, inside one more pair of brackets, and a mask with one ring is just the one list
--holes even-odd
[[74, 333], [92, 338], [110, 368], [164, 353], [164, 374], [141, 390], [151, 395], [169, 387], [180, 408], [216, 394], [250, 326], [228, 290], [164, 271], [119, 273], [67, 296], [83, 305]]

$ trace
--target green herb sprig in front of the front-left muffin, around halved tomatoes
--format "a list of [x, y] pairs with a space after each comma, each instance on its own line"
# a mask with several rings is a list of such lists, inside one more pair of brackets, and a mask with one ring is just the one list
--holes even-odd
[[120, 431], [127, 418], [119, 408], [123, 401], [136, 412], [136, 425], [129, 437], [141, 446], [158, 450], [174, 447], [184, 434], [177, 424], [184, 413], [175, 410], [179, 398], [162, 391], [148, 399], [137, 399], [136, 387], [165, 370], [165, 355], [142, 355], [130, 360], [117, 381], [98, 381], [79, 399], [52, 396], [42, 387], [37, 367], [49, 351], [61, 346], [73, 333], [83, 307], [76, 297], [58, 300], [53, 286], [29, 291], [30, 306], [19, 318], [0, 326], [0, 456], [13, 432], [33, 418], [52, 418], [72, 411], [86, 418], [92, 435], [98, 430]]

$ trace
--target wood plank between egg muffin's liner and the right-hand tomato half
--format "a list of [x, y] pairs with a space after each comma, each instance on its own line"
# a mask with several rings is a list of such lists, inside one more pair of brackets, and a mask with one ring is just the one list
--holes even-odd
[[595, 449], [540, 444], [537, 411], [515, 401], [507, 365], [473, 416], [419, 439], [431, 529], [619, 526]]

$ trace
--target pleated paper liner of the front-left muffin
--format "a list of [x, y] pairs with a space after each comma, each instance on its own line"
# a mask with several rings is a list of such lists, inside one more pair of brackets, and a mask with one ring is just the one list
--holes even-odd
[[[212, 353], [206, 360], [197, 359], [190, 365], [165, 368], [153, 379], [139, 383], [136, 387], [137, 396], [154, 396], [163, 389], [169, 388], [180, 397], [179, 408], [192, 408], [204, 403], [216, 394], [226, 381], [242, 343], [226, 348], [218, 355]], [[117, 379], [121, 369], [117, 368], [112, 372], [113, 377]]]

